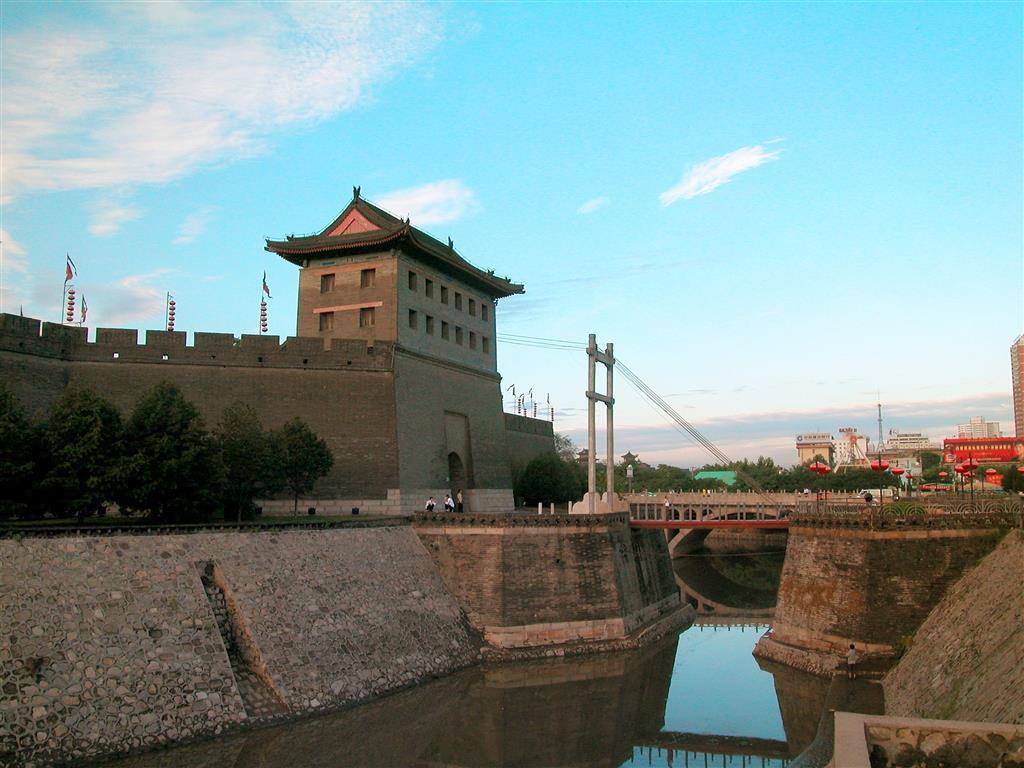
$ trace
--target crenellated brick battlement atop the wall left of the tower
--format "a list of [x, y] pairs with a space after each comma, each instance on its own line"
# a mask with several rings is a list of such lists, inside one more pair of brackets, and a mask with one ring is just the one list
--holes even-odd
[[197, 331], [191, 346], [183, 331], [145, 331], [139, 342], [135, 329], [88, 329], [62, 326], [35, 317], [0, 313], [0, 351], [85, 362], [153, 362], [161, 365], [241, 368], [338, 369], [390, 371], [394, 345], [365, 339], [330, 339], [207, 333]]

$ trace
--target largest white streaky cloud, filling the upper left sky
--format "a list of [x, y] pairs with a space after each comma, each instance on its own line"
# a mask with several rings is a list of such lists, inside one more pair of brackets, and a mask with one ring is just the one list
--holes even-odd
[[5, 199], [164, 182], [265, 152], [439, 39], [438, 11], [419, 3], [89, 9], [3, 36]]

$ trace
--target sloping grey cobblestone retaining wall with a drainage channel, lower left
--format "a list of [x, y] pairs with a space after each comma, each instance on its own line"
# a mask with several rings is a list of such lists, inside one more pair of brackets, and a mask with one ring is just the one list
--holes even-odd
[[[253, 676], [291, 716], [445, 674], [479, 649], [408, 526], [5, 540], [0, 598], [4, 765], [252, 722], [265, 713], [247, 712], [238, 657], [258, 658]], [[222, 632], [245, 652], [229, 659]]]

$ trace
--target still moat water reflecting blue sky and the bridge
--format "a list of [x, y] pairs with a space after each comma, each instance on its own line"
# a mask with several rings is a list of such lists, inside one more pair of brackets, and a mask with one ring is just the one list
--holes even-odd
[[700, 615], [641, 650], [486, 664], [332, 715], [103, 765], [784, 766], [813, 739], [827, 681], [762, 670], [751, 653], [783, 558], [735, 547], [676, 558]]

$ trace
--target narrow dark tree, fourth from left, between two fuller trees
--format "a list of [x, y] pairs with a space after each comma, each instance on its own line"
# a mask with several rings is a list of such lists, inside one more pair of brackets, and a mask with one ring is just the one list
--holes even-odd
[[236, 402], [224, 410], [215, 438], [224, 464], [224, 516], [249, 518], [257, 495], [271, 495], [281, 487], [270, 435], [254, 408]]

